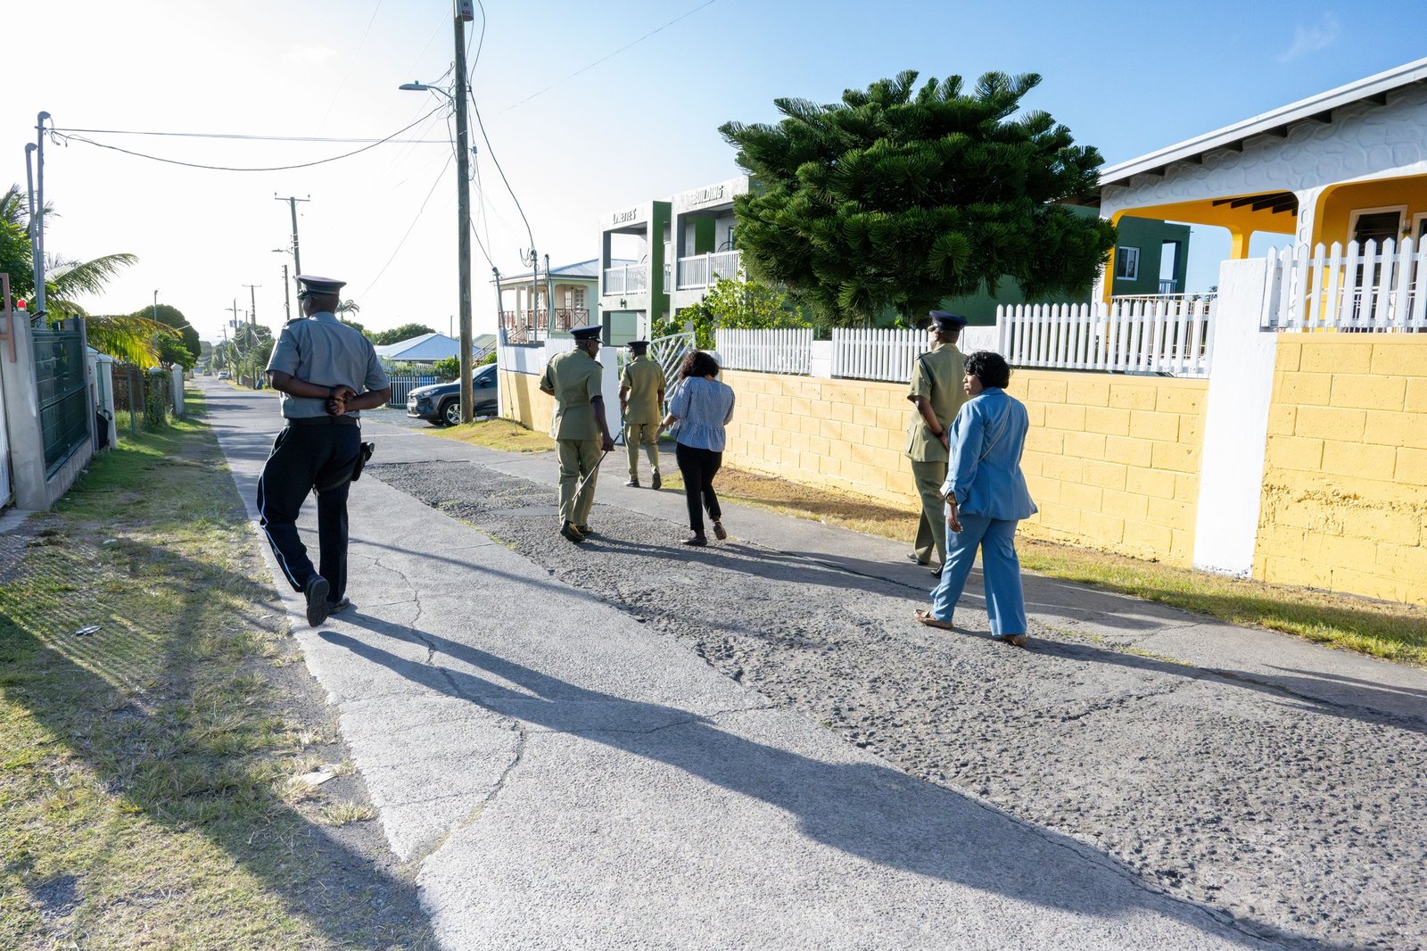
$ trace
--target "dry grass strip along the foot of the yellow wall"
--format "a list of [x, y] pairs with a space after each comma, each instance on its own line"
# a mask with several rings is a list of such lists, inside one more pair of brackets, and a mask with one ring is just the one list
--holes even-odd
[[[684, 488], [678, 470], [665, 488]], [[875, 498], [789, 483], [725, 466], [721, 498], [909, 541], [918, 514]], [[1017, 540], [1025, 568], [1052, 578], [1197, 611], [1232, 624], [1264, 627], [1384, 660], [1427, 665], [1427, 608], [1330, 591], [1229, 578], [1089, 548]]]

